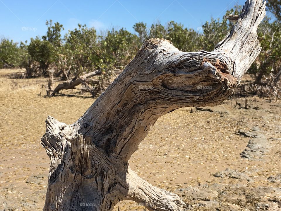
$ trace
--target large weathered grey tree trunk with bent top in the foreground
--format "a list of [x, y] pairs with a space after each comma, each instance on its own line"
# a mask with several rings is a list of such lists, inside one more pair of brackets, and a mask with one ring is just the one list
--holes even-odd
[[261, 47], [263, 0], [247, 0], [231, 32], [212, 52], [181, 52], [150, 39], [72, 125], [46, 120], [50, 157], [44, 210], [112, 210], [130, 199], [148, 210], [181, 210], [179, 196], [150, 185], [129, 159], [156, 120], [177, 108], [215, 106], [232, 95]]

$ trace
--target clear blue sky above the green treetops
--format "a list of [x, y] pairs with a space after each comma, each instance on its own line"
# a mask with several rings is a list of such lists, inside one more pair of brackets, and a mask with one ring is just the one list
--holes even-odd
[[46, 20], [64, 25], [66, 33], [78, 23], [95, 27], [97, 32], [121, 27], [134, 32], [139, 21], [148, 24], [168, 21], [183, 23], [197, 30], [205, 21], [222, 18], [227, 9], [245, 0], [99, 0], [99, 1], [18, 1], [0, 0], [0, 38], [16, 42], [46, 33]]

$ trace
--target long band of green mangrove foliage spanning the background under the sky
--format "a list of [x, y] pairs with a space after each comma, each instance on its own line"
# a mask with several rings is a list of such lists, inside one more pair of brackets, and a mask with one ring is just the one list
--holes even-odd
[[[275, 18], [265, 18], [258, 29], [258, 37], [262, 52], [251, 66], [251, 73], [278, 72], [281, 67], [281, 15], [280, 0], [270, 0], [268, 10]], [[235, 6], [226, 12], [238, 15], [241, 6]], [[135, 34], [121, 28], [108, 30], [98, 36], [94, 28], [78, 24], [78, 27], [61, 36], [63, 25], [52, 20], [46, 22], [47, 33], [42, 38], [31, 38], [29, 45], [23, 42], [18, 45], [12, 40], [2, 40], [0, 44], [0, 67], [4, 65], [28, 67], [30, 63], [39, 64], [41, 74], [50, 66], [58, 69], [57, 75], [64, 78], [78, 77], [81, 74], [102, 70], [104, 78], [108, 78], [113, 69], [123, 69], [136, 55], [139, 47], [146, 39], [164, 38], [173, 42], [181, 51], [212, 51], [232, 29], [234, 23], [226, 19], [211, 18], [199, 31], [185, 28], [183, 24], [170, 21], [166, 26], [161, 23], [152, 24], [138, 22], [133, 25]], [[35, 65], [37, 68], [37, 66]]]

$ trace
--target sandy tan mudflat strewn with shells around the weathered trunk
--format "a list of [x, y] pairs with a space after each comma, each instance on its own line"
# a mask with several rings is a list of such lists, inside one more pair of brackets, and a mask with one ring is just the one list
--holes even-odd
[[[40, 145], [44, 121], [51, 115], [71, 124], [94, 99], [45, 98], [38, 94], [46, 79], [9, 79], [13, 71], [0, 70], [0, 211], [42, 210], [49, 173]], [[251, 97], [250, 108], [239, 109], [236, 101], [244, 103], [232, 99], [161, 117], [131, 168], [180, 195], [186, 210], [281, 210], [281, 103]], [[118, 206], [144, 210], [131, 201]]]

